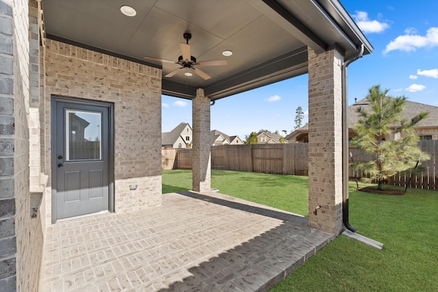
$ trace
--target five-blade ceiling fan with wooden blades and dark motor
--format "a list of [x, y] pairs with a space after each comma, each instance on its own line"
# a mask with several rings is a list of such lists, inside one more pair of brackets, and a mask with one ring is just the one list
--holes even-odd
[[[202, 77], [205, 80], [210, 79], [211, 76], [208, 75], [207, 73], [205, 73], [204, 71], [198, 69], [196, 66], [222, 66], [222, 65], [228, 64], [226, 59], [215, 59], [215, 60], [210, 60], [210, 61], [196, 62], [196, 58], [193, 57], [190, 53], [189, 40], [192, 38], [192, 34], [185, 33], [183, 36], [184, 36], [186, 42], [180, 43], [182, 55], [180, 55], [178, 57], [178, 62], [170, 61], [168, 59], [159, 59], [159, 58], [147, 57], [147, 56], [144, 57], [144, 59], [155, 61], [155, 62], [174, 63], [174, 64], [179, 64], [181, 66], [180, 68], [172, 70], [170, 73], [168, 73], [168, 75], [166, 75], [164, 77], [172, 77], [173, 75], [177, 74], [177, 72], [179, 70], [185, 69], [185, 70], [194, 70], [196, 75], [198, 75], [199, 77]], [[190, 73], [190, 72], [185, 72], [185, 75], [192, 76], [191, 73], [190, 74], [188, 74], [188, 73]]]

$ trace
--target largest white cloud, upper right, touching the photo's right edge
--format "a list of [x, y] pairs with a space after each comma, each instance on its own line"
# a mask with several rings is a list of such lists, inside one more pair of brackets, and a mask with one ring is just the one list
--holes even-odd
[[438, 47], [438, 27], [430, 27], [427, 30], [426, 36], [411, 34], [412, 29], [404, 31], [404, 36], [398, 36], [387, 44], [385, 53], [390, 51], [415, 51], [424, 47]]

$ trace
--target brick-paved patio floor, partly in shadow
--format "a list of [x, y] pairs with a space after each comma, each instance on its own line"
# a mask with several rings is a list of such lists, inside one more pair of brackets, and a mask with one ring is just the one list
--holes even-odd
[[266, 291], [333, 239], [305, 217], [189, 191], [48, 229], [40, 291]]

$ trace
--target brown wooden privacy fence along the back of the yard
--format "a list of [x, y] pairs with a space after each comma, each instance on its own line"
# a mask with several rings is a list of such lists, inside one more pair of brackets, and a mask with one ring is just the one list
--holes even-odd
[[[423, 140], [419, 145], [429, 153], [430, 160], [422, 163], [426, 169], [422, 174], [412, 176], [411, 187], [438, 190], [438, 140]], [[308, 149], [307, 143], [212, 146], [211, 168], [307, 176]], [[351, 147], [350, 152], [354, 161], [374, 159], [358, 148]], [[192, 169], [192, 149], [162, 148], [162, 169]], [[361, 178], [362, 175], [350, 168], [350, 179]], [[387, 184], [405, 187], [410, 178], [411, 172], [400, 173], [389, 178]]]

